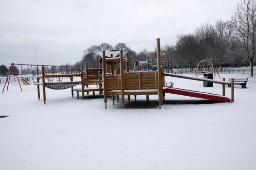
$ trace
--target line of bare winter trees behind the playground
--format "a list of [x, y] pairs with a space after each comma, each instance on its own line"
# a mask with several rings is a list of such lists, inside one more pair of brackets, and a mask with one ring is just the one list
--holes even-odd
[[[156, 50], [143, 49], [137, 54], [125, 43], [118, 43], [115, 47], [102, 43], [88, 47], [84, 51], [82, 60], [75, 66], [80, 67], [87, 62], [89, 67], [97, 68], [100, 58], [97, 53], [112, 49], [129, 52], [130, 63], [132, 60], [145, 61], [147, 58], [156, 58]], [[223, 67], [250, 66], [250, 75], [253, 76], [255, 52], [256, 2], [241, 0], [230, 20], [217, 20], [214, 24], [202, 24], [193, 33], [177, 35], [175, 44], [162, 46], [161, 60], [168, 59], [171, 70], [189, 68], [192, 72], [196, 62], [213, 58], [221, 70]]]

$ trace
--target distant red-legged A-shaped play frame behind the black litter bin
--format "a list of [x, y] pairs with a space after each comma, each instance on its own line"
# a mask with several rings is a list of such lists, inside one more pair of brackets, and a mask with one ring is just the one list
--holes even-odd
[[212, 72], [214, 79], [216, 74], [218, 74], [219, 78], [221, 78], [219, 75], [218, 69], [216, 68], [215, 61], [212, 58], [197, 62], [196, 69], [194, 70], [193, 75], [198, 77], [199, 74], [204, 74], [207, 72]]

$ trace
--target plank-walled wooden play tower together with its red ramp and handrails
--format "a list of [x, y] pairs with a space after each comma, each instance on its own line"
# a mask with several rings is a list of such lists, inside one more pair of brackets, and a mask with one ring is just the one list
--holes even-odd
[[[126, 70], [124, 65], [128, 60], [128, 53], [126, 58], [123, 58], [123, 52], [119, 51], [118, 57], [106, 58], [105, 51], [102, 51], [102, 65], [103, 65], [103, 89], [104, 89], [104, 103], [105, 109], [107, 108], [107, 96], [111, 95], [113, 104], [115, 95], [121, 96], [122, 108], [124, 109], [124, 96], [128, 96], [130, 103], [130, 96], [134, 95], [146, 95], [147, 100], [149, 95], [158, 95], [159, 109], [163, 104], [165, 93], [172, 93], [184, 96], [191, 96], [196, 98], [203, 98], [208, 100], [214, 100], [218, 102], [234, 102], [234, 79], [231, 82], [216, 81], [202, 78], [194, 78], [183, 75], [176, 75], [171, 73], [165, 73], [161, 67], [160, 56], [160, 39], [157, 39], [157, 70], [156, 71], [134, 71], [129, 72], [128, 64], [126, 64]], [[120, 74], [108, 74], [107, 66], [108, 62], [120, 63]], [[112, 72], [112, 71], [111, 71]], [[222, 84], [222, 95], [205, 93], [199, 91], [185, 90], [173, 87], [164, 87], [164, 77], [178, 77], [183, 79], [197, 80], [203, 82]], [[225, 85], [231, 86], [231, 99], [225, 97]]]

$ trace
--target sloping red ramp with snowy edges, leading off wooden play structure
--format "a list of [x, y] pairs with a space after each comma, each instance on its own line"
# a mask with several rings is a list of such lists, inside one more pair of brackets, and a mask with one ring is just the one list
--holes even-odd
[[173, 88], [173, 87], [164, 87], [163, 91], [165, 93], [190, 96], [190, 97], [201, 98], [201, 99], [208, 99], [208, 100], [218, 101], [218, 102], [230, 102], [229, 98], [219, 94], [213, 94], [213, 93], [205, 93], [200, 91], [186, 90], [186, 89]]

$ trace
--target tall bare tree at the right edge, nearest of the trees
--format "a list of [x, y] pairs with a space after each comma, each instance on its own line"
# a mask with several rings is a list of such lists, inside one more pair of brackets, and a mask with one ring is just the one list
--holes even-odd
[[256, 2], [241, 0], [232, 15], [234, 36], [241, 44], [238, 49], [250, 61], [250, 76], [253, 77], [253, 62], [256, 53]]

